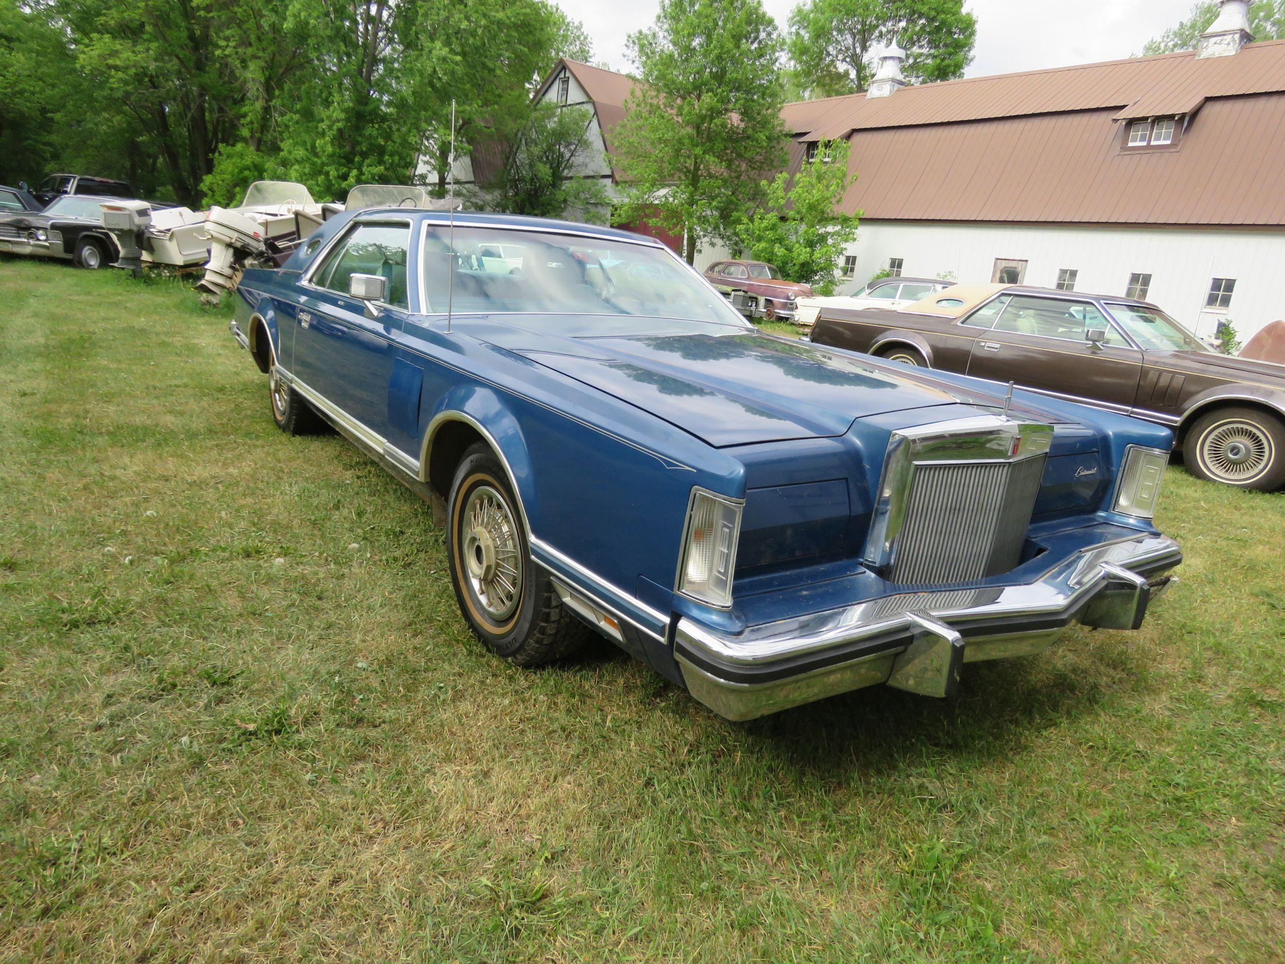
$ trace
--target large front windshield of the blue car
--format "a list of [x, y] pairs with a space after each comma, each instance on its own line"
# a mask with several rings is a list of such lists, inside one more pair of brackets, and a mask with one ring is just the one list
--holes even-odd
[[[451, 234], [434, 225], [425, 237], [425, 311], [577, 316], [559, 330], [645, 330], [668, 319], [745, 328], [725, 298], [668, 249], [648, 244], [536, 231], [456, 228], [454, 274], [447, 275]], [[450, 308], [447, 308], [450, 305]]]

